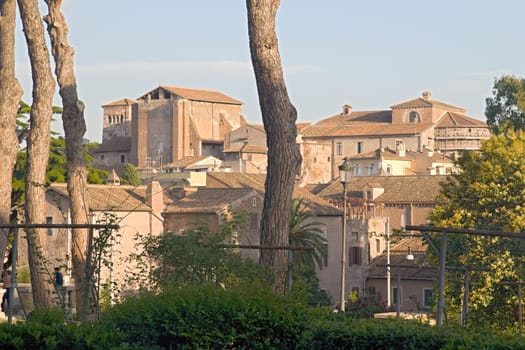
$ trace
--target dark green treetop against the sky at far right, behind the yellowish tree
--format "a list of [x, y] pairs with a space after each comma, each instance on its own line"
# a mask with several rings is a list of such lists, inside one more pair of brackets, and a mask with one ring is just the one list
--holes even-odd
[[525, 130], [525, 79], [504, 75], [494, 81], [493, 97], [486, 99], [485, 116], [493, 133]]

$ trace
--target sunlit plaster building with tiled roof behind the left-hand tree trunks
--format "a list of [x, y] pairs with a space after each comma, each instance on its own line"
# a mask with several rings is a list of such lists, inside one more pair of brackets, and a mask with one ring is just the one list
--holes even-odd
[[[113, 232], [115, 245], [107, 257], [112, 267], [102, 267], [101, 282], [110, 284], [120, 292], [126, 291], [126, 275], [131, 265], [126, 261], [137, 252], [135, 235], [158, 235], [163, 232], [162, 211], [164, 196], [156, 182], [148, 186], [88, 185], [87, 209], [92, 223], [104, 223], [112, 217], [120, 226]], [[46, 223], [70, 223], [70, 203], [66, 184], [52, 184], [46, 191]], [[97, 233], [95, 233], [95, 236]], [[68, 229], [48, 229], [43, 239], [46, 258], [52, 266], [67, 265], [64, 276], [71, 278], [72, 236]], [[27, 248], [20, 247], [21, 267], [27, 263]], [[27, 265], [26, 265], [27, 266]], [[113, 289], [112, 289], [113, 291]]]

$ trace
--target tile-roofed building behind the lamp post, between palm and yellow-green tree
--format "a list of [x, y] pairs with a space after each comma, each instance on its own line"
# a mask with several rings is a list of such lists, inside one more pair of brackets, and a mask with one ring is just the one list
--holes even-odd
[[[446, 176], [437, 175], [411, 175], [356, 176], [351, 179], [347, 184], [346, 291], [362, 296], [369, 293], [369, 287], [374, 287], [378, 292], [386, 290], [386, 274], [369, 285], [371, 263], [385, 254], [386, 237], [394, 229], [428, 224], [428, 216], [435, 206], [440, 184], [445, 178]], [[317, 192], [320, 197], [342, 208], [343, 188], [338, 179], [320, 190], [317, 189]], [[327, 268], [318, 274], [321, 285], [337, 293], [341, 290], [338, 277], [341, 271], [341, 239], [342, 229], [335, 235], [328, 235], [329, 252], [332, 252], [332, 256], [329, 256]], [[413, 248], [417, 249], [415, 245]], [[416, 273], [415, 270], [413, 272]], [[403, 279], [410, 278], [409, 273], [403, 273]], [[431, 287], [429, 281], [425, 285]], [[384, 296], [382, 293], [382, 297]]]

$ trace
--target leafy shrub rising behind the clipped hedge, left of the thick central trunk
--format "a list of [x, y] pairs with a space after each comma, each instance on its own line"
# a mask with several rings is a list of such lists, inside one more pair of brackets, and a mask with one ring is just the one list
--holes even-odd
[[[268, 275], [250, 259], [244, 258], [230, 244], [232, 234], [242, 225], [242, 218], [233, 215], [223, 220], [218, 232], [206, 225], [196, 225], [180, 234], [138, 236], [139, 254], [130, 262], [139, 273], [130, 271], [128, 284], [134, 289], [186, 287], [194, 284], [217, 284], [226, 288], [243, 284], [269, 284]], [[155, 264], [151, 267], [151, 261]]]

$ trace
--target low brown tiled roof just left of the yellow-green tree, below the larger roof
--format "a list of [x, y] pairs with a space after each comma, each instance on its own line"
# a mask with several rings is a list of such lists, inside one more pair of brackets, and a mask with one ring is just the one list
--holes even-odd
[[[414, 255], [414, 260], [406, 260], [408, 248]], [[403, 279], [434, 280], [437, 278], [437, 268], [428, 268], [423, 262], [427, 255], [427, 246], [422, 238], [404, 238], [390, 248], [391, 278], [394, 279], [398, 273]], [[387, 255], [383, 252], [370, 263], [368, 278], [386, 278]]]

